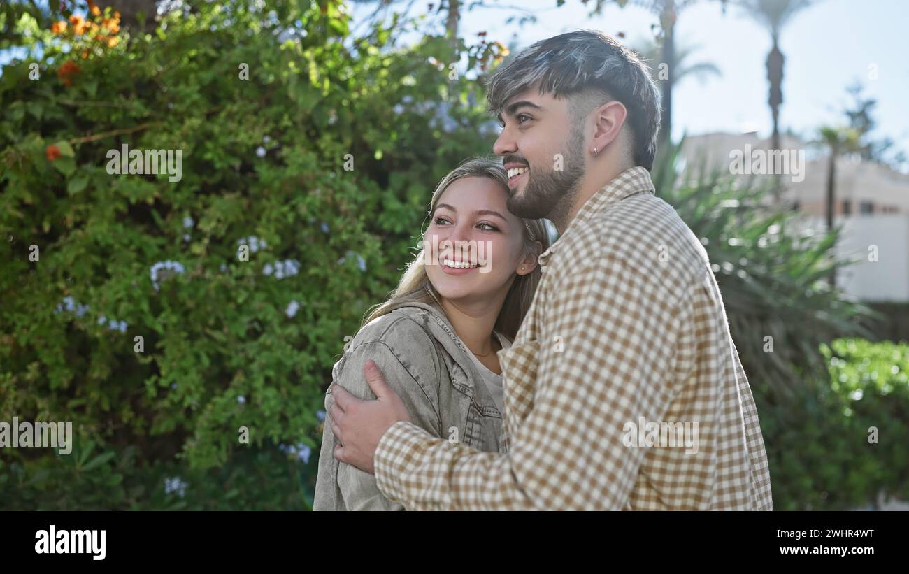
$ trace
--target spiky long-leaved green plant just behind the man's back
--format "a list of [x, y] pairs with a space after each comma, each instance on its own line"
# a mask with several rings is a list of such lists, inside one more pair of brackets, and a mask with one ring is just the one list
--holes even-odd
[[[855, 317], [868, 312], [824, 288], [836, 270], [852, 263], [831, 256], [839, 231], [795, 233], [798, 215], [764, 202], [769, 182], [738, 180], [703, 155], [689, 157], [683, 168], [682, 147], [669, 143], [662, 150], [654, 186], [701, 239], [714, 265], [745, 371], [760, 381], [755, 401], [761, 400], [758, 392], [766, 397], [773, 389], [782, 401], [812, 381], [827, 381], [820, 343], [857, 334]], [[764, 348], [766, 335], [775, 341], [772, 353]]]

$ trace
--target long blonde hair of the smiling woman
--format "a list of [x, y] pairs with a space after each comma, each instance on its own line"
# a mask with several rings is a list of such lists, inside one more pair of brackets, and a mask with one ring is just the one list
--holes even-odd
[[[439, 198], [442, 197], [442, 193], [445, 193], [445, 190], [452, 183], [464, 177], [486, 177], [500, 184], [504, 189], [508, 189], [508, 175], [505, 173], [501, 162], [483, 157], [472, 157], [455, 167], [435, 186], [427, 216], [431, 216], [435, 212], [435, 205], [438, 203]], [[522, 218], [521, 222], [524, 223], [524, 252], [522, 256], [530, 254], [538, 256], [541, 251], [539, 251], [540, 247], [536, 242], [540, 242], [543, 246], [543, 251], [549, 249], [549, 234], [546, 232], [546, 227], [542, 220]], [[425, 229], [424, 225], [423, 232], [420, 233], [420, 245], [425, 244], [423, 242]], [[417, 252], [414, 261], [407, 265], [407, 270], [401, 277], [401, 281], [398, 282], [395, 291], [390, 293], [388, 300], [375, 305], [366, 312], [363, 321], [364, 325], [392, 312], [397, 307], [405, 306], [407, 303], [435, 303], [441, 309], [442, 303], [439, 293], [435, 291], [435, 287], [426, 276], [424, 256], [423, 249]], [[514, 336], [517, 334], [521, 322], [524, 321], [524, 314], [530, 309], [530, 303], [534, 300], [534, 292], [536, 292], [536, 286], [540, 282], [541, 276], [542, 271], [537, 265], [534, 271], [525, 275], [517, 275], [514, 278], [511, 289], [505, 295], [502, 311], [499, 312], [498, 319], [495, 321], [494, 329], [496, 332], [500, 332], [514, 341]]]

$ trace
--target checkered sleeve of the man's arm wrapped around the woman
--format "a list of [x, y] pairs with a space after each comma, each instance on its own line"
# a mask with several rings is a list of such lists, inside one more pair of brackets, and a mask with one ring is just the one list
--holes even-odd
[[562, 344], [539, 345], [534, 404], [512, 427], [511, 450], [480, 452], [397, 422], [375, 452], [379, 489], [414, 510], [621, 510], [644, 457], [625, 446], [625, 424], [658, 421], [668, 406], [677, 324], [666, 291], [611, 257], [573, 272], [547, 304], [546, 336]]

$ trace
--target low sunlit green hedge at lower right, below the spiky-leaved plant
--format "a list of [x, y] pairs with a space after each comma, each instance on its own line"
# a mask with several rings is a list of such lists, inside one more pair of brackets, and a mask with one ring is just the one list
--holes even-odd
[[840, 339], [821, 351], [829, 384], [761, 418], [776, 508], [866, 508], [879, 494], [909, 500], [909, 345]]

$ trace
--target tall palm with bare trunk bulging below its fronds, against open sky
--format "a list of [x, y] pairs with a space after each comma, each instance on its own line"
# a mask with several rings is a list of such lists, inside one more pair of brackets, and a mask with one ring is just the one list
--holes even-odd
[[746, 13], [763, 25], [774, 41], [767, 54], [767, 79], [770, 80], [770, 112], [774, 116], [773, 149], [780, 149], [780, 106], [783, 104], [783, 64], [785, 57], [780, 50], [780, 33], [799, 10], [812, 4], [812, 0], [738, 0]]

